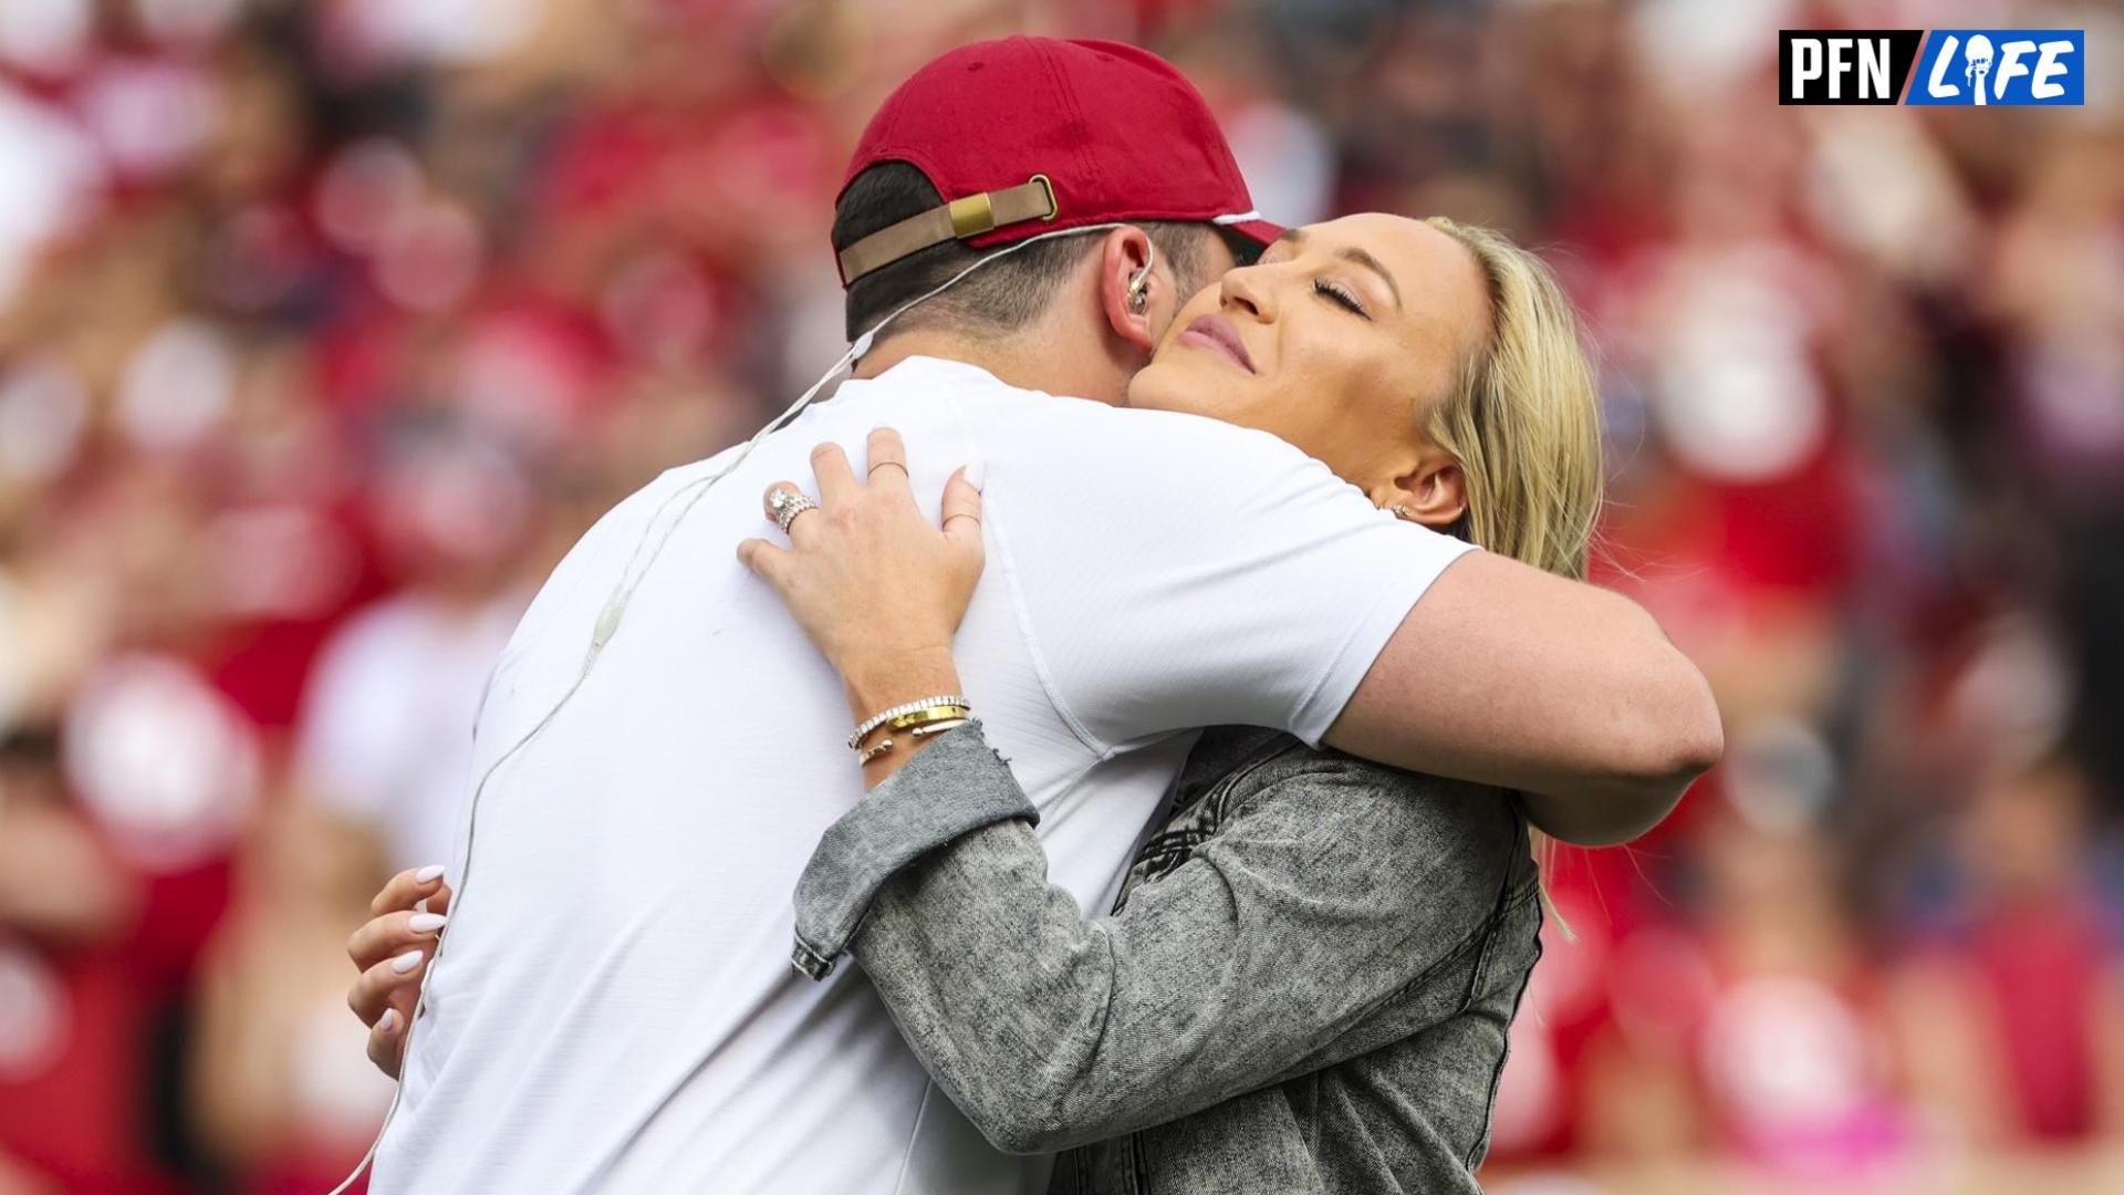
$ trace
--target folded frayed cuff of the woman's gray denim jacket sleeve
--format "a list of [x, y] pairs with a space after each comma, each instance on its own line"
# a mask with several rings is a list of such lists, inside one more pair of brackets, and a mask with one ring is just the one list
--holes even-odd
[[826, 978], [894, 872], [1009, 819], [1041, 823], [1011, 765], [981, 738], [979, 723], [937, 736], [820, 838], [796, 880], [790, 963], [813, 980]]

